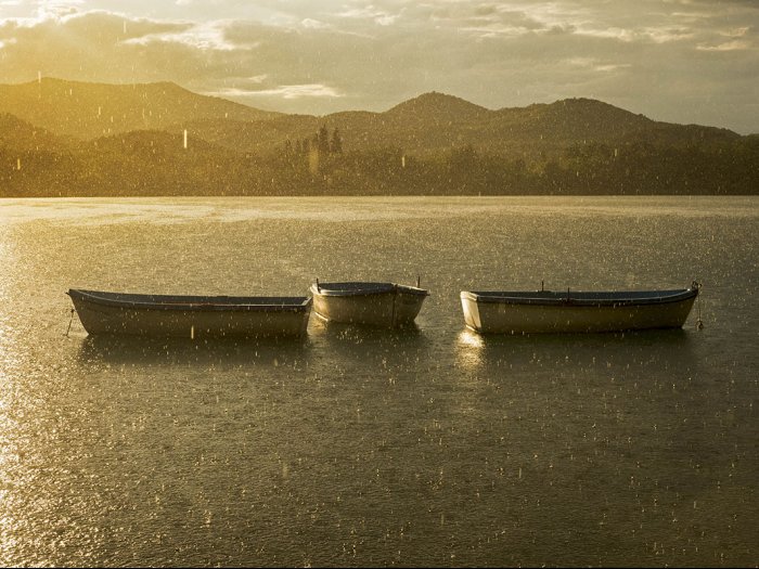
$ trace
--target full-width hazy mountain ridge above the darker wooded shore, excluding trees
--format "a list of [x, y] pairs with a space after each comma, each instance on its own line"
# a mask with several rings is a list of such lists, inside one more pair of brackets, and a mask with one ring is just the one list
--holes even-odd
[[[739, 137], [715, 127], [655, 121], [592, 99], [488, 109], [433, 91], [384, 113], [349, 111], [316, 117], [261, 111], [196, 94], [171, 82], [111, 85], [53, 78], [0, 85], [0, 113], [52, 133], [81, 139], [190, 127], [209, 142], [246, 151], [307, 135], [319, 124], [339, 129], [357, 148], [399, 145], [411, 152], [459, 144], [504, 152], [525, 143], [561, 146], [579, 140], [648, 135], [678, 143]], [[241, 126], [252, 122], [256, 127]]]

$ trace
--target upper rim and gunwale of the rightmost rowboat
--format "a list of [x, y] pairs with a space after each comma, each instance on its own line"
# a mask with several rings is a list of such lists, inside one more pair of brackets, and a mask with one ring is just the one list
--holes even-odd
[[460, 296], [477, 303], [614, 308], [682, 302], [698, 296], [698, 288], [630, 292], [462, 290]]

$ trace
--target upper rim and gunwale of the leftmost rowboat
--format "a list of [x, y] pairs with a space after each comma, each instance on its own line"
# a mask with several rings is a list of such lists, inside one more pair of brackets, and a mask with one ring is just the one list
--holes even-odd
[[129, 310], [184, 310], [191, 312], [301, 312], [310, 310], [313, 299], [297, 297], [232, 297], [232, 296], [183, 296], [110, 293], [70, 288], [66, 293], [72, 299], [93, 305]]

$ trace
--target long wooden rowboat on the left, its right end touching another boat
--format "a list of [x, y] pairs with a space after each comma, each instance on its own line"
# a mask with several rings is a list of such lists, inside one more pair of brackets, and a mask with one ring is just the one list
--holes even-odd
[[88, 334], [179, 337], [300, 336], [309, 297], [171, 296], [72, 288]]

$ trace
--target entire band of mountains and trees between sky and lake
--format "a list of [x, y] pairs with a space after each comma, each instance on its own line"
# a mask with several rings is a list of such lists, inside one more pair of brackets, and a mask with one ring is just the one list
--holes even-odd
[[488, 109], [429, 92], [319, 117], [170, 82], [0, 85], [0, 197], [398, 193], [757, 194], [759, 134], [584, 98]]

